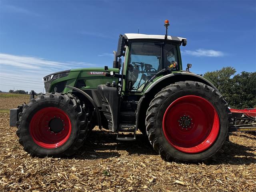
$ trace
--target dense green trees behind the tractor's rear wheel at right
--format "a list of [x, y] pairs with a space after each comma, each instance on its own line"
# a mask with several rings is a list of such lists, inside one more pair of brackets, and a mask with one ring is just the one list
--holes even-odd
[[235, 68], [223, 67], [221, 70], [206, 72], [204, 77], [213, 82], [230, 108], [255, 108], [256, 72], [235, 74]]

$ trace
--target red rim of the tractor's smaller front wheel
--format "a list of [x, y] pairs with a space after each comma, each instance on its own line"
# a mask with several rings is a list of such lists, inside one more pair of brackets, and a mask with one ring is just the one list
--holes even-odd
[[34, 142], [49, 149], [62, 146], [68, 140], [71, 130], [70, 118], [63, 110], [56, 107], [40, 109], [29, 124]]

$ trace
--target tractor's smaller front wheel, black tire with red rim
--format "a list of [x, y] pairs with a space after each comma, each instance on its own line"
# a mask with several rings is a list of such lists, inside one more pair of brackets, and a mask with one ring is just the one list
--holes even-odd
[[31, 99], [19, 114], [16, 132], [32, 156], [70, 156], [82, 146], [87, 121], [80, 100], [70, 94], [46, 93]]

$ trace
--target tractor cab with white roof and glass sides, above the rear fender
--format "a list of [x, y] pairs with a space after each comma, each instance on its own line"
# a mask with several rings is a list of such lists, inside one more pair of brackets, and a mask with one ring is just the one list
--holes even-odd
[[125, 56], [125, 91], [142, 92], [161, 70], [181, 71], [180, 44], [185, 41], [185, 38], [173, 36], [165, 39], [164, 35], [120, 35], [119, 42], [125, 42], [125, 46], [118, 44], [118, 50], [121, 50], [118, 56]]

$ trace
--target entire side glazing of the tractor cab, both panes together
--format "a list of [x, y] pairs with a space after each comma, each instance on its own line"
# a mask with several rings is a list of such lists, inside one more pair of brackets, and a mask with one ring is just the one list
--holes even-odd
[[161, 69], [169, 67], [172, 61], [178, 62], [175, 44], [132, 42], [128, 62], [128, 91], [142, 91], [146, 82]]

